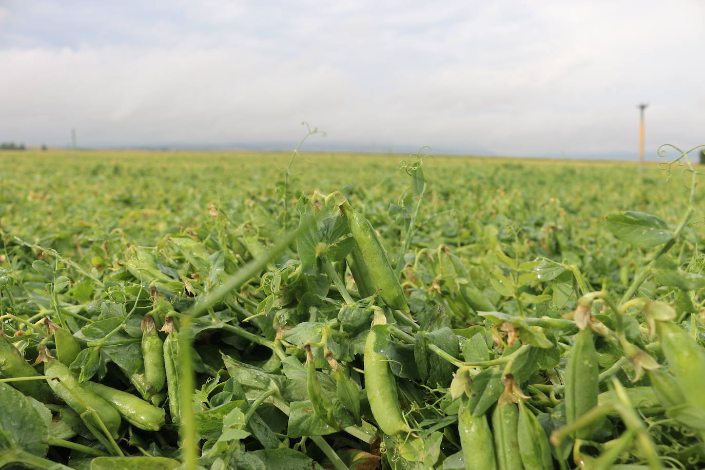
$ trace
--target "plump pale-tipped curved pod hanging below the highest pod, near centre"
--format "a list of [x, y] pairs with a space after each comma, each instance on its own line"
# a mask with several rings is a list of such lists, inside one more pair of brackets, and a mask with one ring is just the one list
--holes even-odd
[[374, 330], [376, 325], [386, 324], [384, 311], [374, 307], [372, 329], [367, 334], [364, 345], [364, 389], [372, 409], [372, 416], [379, 428], [388, 435], [398, 435], [411, 431], [401, 412], [396, 382], [387, 358], [374, 350], [374, 342], [381, 333]]

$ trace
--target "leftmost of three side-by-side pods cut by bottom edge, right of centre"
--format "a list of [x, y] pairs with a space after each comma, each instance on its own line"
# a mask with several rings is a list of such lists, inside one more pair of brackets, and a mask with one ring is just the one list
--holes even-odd
[[458, 433], [466, 470], [496, 470], [494, 439], [487, 415], [472, 416], [470, 402], [462, 398], [458, 409]]

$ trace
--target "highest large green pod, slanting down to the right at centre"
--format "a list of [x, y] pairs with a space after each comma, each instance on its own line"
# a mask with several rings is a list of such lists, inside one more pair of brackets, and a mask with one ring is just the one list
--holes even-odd
[[355, 211], [347, 201], [341, 205], [341, 208], [348, 216], [350, 232], [353, 233], [355, 244], [360, 248], [362, 261], [368, 268], [372, 284], [380, 291], [379, 296], [389, 307], [408, 312], [409, 306], [406, 303], [404, 291], [372, 224]]

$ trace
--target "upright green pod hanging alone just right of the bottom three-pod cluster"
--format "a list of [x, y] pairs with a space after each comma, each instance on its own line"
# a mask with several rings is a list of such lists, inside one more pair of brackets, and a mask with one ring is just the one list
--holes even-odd
[[[596, 406], [599, 395], [599, 364], [592, 330], [585, 328], [575, 335], [565, 366], [565, 417], [568, 424]], [[599, 423], [597, 423], [599, 424]], [[589, 439], [594, 425], [575, 431], [574, 438]]]

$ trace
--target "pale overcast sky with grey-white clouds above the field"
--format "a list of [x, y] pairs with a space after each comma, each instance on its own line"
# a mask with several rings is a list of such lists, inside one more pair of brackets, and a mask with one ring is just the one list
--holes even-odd
[[701, 0], [0, 0], [0, 140], [625, 158], [642, 101], [705, 143], [704, 50]]

